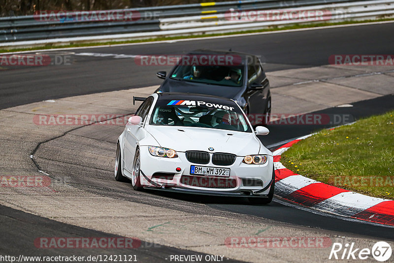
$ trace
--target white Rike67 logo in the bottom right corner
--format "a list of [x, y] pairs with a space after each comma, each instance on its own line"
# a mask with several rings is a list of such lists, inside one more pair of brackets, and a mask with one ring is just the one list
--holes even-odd
[[376, 261], [385, 262], [391, 258], [392, 252], [390, 244], [385, 241], [376, 242], [372, 249], [356, 248], [354, 242], [351, 244], [346, 243], [345, 245], [333, 243], [328, 259], [366, 260], [373, 257]]

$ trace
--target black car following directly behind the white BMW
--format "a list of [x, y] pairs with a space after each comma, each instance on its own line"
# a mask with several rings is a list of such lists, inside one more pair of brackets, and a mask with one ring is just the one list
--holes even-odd
[[[269, 81], [258, 56], [214, 50], [195, 50], [183, 56], [156, 90], [205, 94], [235, 100], [253, 126], [267, 124], [271, 113]], [[256, 117], [259, 116], [259, 117]]]

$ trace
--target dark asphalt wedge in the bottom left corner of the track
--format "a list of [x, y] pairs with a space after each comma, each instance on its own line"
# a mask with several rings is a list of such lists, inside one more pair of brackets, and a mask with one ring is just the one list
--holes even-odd
[[[37, 236], [66, 236], [70, 238], [83, 237], [100, 237], [100, 238], [119, 238], [121, 236], [103, 233], [96, 230], [84, 229], [64, 223], [60, 223], [47, 218], [28, 214], [16, 209], [0, 205], [0, 223], [2, 233], [0, 236], [0, 255], [10, 255], [19, 257], [40, 256], [48, 257], [64, 256], [77, 257], [98, 256], [98, 255], [122, 255], [133, 256], [138, 262], [168, 262], [169, 255], [202, 255], [202, 259], [206, 254], [195, 251], [176, 249], [173, 247], [162, 246], [150, 242], [141, 242], [141, 246], [135, 249], [130, 248], [107, 248], [107, 249], [39, 249], [35, 247], [34, 240]], [[17, 226], [17, 227], [16, 227]], [[3, 262], [3, 261], [1, 261]], [[202, 260], [201, 262], [206, 262]], [[240, 262], [228, 259], [226, 262]]]

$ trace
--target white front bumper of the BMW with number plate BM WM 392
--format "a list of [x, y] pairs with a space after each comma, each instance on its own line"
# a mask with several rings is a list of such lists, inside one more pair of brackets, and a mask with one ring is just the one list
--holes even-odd
[[[155, 157], [149, 153], [147, 146], [141, 146], [140, 153], [140, 180], [145, 188], [203, 195], [264, 197], [268, 195], [273, 181], [272, 156], [268, 156], [265, 164], [244, 164], [242, 163], [243, 157], [237, 156], [233, 164], [219, 166], [212, 164], [211, 161], [208, 164], [190, 163], [183, 152], [177, 152], [177, 158]], [[211, 160], [212, 154], [210, 153]], [[190, 174], [191, 165], [230, 168], [230, 177], [193, 175]], [[181, 168], [179, 172], [176, 171], [177, 167]], [[157, 178], [154, 175], [158, 173], [168, 174], [170, 178]], [[171, 175], [173, 175], [172, 178]], [[253, 184], [251, 186], [246, 183], [259, 181], [260, 185], [258, 186], [253, 186]]]

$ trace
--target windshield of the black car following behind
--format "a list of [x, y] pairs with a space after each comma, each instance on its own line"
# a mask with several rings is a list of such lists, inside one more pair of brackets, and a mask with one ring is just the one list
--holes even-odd
[[240, 87], [243, 84], [243, 66], [185, 66], [178, 65], [170, 78], [205, 84]]

